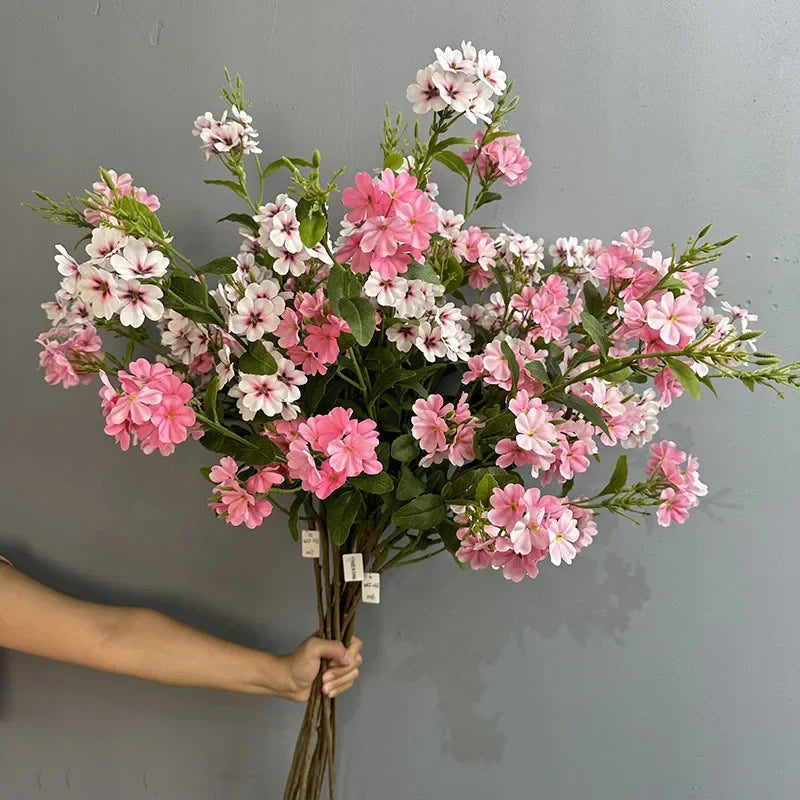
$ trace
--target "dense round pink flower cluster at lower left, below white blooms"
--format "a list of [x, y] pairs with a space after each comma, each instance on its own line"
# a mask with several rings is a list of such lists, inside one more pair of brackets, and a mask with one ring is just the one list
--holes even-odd
[[117, 372], [119, 390], [105, 372], [100, 378], [105, 432], [123, 450], [133, 441], [145, 453], [158, 450], [170, 455], [176, 444], [186, 441], [195, 424], [195, 412], [189, 406], [193, 389], [171, 369], [139, 358], [127, 371]]

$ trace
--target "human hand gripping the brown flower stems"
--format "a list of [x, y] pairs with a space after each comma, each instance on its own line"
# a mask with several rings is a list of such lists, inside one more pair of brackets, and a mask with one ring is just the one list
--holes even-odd
[[283, 656], [288, 673], [288, 687], [282, 692], [283, 696], [297, 702], [307, 701], [323, 659], [330, 662], [322, 675], [323, 693], [336, 697], [347, 691], [363, 663], [362, 644], [357, 636], [353, 637], [349, 648], [341, 642], [310, 636], [293, 653]]

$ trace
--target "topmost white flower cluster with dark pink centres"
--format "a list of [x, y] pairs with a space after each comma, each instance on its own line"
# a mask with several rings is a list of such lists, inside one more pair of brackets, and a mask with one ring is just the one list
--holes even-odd
[[477, 50], [472, 42], [461, 49], [437, 47], [436, 61], [417, 72], [417, 82], [406, 91], [414, 113], [450, 110], [470, 122], [490, 121], [492, 97], [506, 89], [500, 58], [491, 50]]

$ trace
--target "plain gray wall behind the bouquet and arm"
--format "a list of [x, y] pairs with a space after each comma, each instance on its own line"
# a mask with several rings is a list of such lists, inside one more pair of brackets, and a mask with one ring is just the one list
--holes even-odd
[[[217, 524], [200, 447], [122, 454], [94, 389], [37, 374], [52, 243], [74, 237], [19, 202], [79, 191], [98, 163], [129, 170], [187, 251], [216, 256], [235, 235], [212, 221], [234, 206], [202, 186], [215, 173], [189, 134], [221, 109], [223, 65], [248, 80], [267, 157], [318, 145], [352, 175], [377, 163], [384, 101], [405, 107], [432, 48], [462, 36], [500, 53], [522, 95], [535, 165], [504, 219], [546, 237], [651, 224], [663, 245], [709, 220], [738, 231], [727, 297], [800, 355], [791, 0], [6, 0], [0, 550], [56, 587], [257, 646], [314, 627], [279, 519]], [[727, 388], [664, 426], [712, 487], [685, 527], [606, 520], [572, 568], [519, 586], [446, 558], [386, 579], [342, 703], [343, 798], [798, 796], [800, 406]], [[15, 654], [0, 676], [9, 800], [277, 797], [301, 716]]]

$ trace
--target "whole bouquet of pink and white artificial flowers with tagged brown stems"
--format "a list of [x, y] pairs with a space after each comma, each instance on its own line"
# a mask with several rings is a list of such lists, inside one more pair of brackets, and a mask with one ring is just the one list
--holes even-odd
[[[656, 439], [661, 412], [722, 378], [800, 385], [800, 364], [756, 349], [753, 314], [713, 305], [710, 265], [731, 240], [708, 228], [662, 252], [649, 228], [545, 248], [473, 222], [531, 166], [492, 51], [436, 50], [407, 92], [427, 130], [387, 111], [382, 166], [344, 189], [338, 225], [343, 170], [323, 180], [317, 151], [262, 164], [242, 82], [226, 77], [227, 108], [194, 134], [229, 173], [205, 183], [240, 203], [220, 220], [238, 225], [238, 252], [195, 263], [127, 173], [101, 170], [82, 197], [37, 193], [86, 240], [80, 256], [57, 245], [40, 363], [51, 384], [99, 378], [123, 450], [198, 440], [228, 524], [285, 513], [313, 563], [321, 635], [348, 640], [381, 575], [438, 553], [520, 581], [571, 564], [600, 511], [685, 522], [707, 488], [695, 456]], [[282, 170], [288, 190], [266, 201]], [[436, 170], [462, 179], [455, 206]], [[641, 447], [629, 479], [624, 451]], [[615, 448], [604, 488], [581, 492]], [[336, 704], [317, 682], [285, 798], [318, 798], [326, 775], [333, 797], [335, 752]]]

